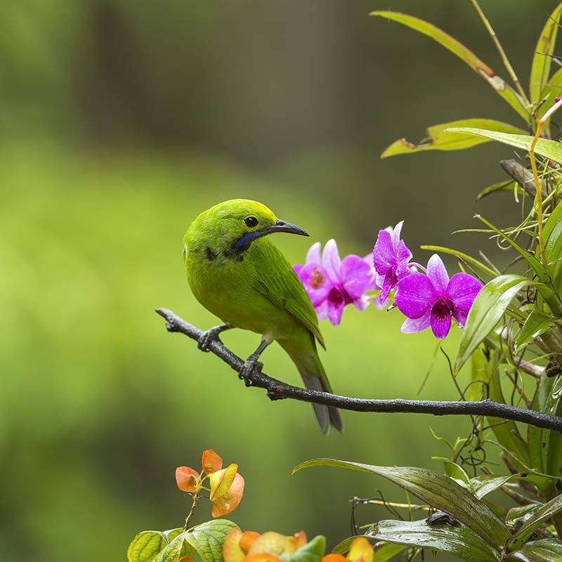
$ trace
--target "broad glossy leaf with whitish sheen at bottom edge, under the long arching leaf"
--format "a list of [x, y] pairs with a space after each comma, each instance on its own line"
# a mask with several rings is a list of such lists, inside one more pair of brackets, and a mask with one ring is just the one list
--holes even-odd
[[428, 525], [425, 521], [379, 521], [365, 536], [408, 547], [455, 554], [466, 562], [498, 562], [499, 549], [490, 547], [466, 525]]

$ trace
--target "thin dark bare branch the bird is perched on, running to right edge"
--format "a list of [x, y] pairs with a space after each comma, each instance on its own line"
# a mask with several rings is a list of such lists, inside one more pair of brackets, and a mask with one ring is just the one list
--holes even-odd
[[[178, 315], [166, 308], [158, 308], [156, 311], [166, 320], [168, 332], [179, 332], [198, 341], [203, 331], [188, 322], [185, 322]], [[235, 355], [230, 349], [223, 345], [219, 340], [211, 341], [209, 351], [221, 358], [236, 372], [240, 372], [244, 360]], [[254, 372], [251, 385], [258, 388], [265, 388], [271, 400], [282, 400], [292, 398], [303, 402], [325, 404], [335, 406], [341, 410], [353, 410], [355, 412], [408, 412], [412, 414], [433, 414], [434, 416], [447, 415], [476, 415], [490, 416], [501, 419], [512, 419], [521, 421], [524, 424], [552, 429], [562, 433], [562, 417], [535, 412], [535, 410], [525, 410], [494, 402], [494, 400], [481, 400], [480, 402], [453, 402], [440, 400], [403, 400], [396, 398], [393, 400], [367, 400], [364, 398], [348, 398], [320, 391], [309, 391], [305, 388], [286, 384], [273, 377], [268, 377], [263, 372]]]

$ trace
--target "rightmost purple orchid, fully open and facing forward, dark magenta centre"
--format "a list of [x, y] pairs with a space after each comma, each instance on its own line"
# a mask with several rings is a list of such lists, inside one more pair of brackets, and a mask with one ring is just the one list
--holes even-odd
[[421, 332], [431, 325], [436, 338], [445, 338], [451, 317], [464, 326], [480, 289], [482, 283], [468, 273], [455, 273], [449, 279], [443, 261], [433, 254], [427, 262], [427, 275], [410, 273], [398, 281], [396, 306], [407, 316], [400, 332]]

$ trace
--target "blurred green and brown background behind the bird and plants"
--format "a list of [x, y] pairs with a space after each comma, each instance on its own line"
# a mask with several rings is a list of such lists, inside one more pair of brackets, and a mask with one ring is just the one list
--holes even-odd
[[[555, 2], [482, 5], [526, 84]], [[242, 528], [302, 528], [332, 547], [351, 532], [353, 495], [404, 496], [359, 473], [289, 476], [293, 466], [330, 456], [440, 470], [431, 456], [447, 451], [430, 424], [450, 438], [469, 432], [463, 419], [346, 412], [344, 435], [324, 438], [309, 405], [244, 388], [153, 312], [216, 323], [186, 285], [182, 237], [231, 197], [268, 204], [311, 242], [335, 237], [342, 254], [367, 254], [379, 228], [401, 219], [412, 249], [497, 254], [482, 235], [450, 233], [477, 226], [474, 212], [516, 220], [509, 195], [475, 201], [502, 179], [508, 148], [379, 153], [430, 124], [517, 117], [453, 55], [369, 18], [377, 8], [435, 22], [505, 76], [468, 0], [1, 2], [2, 560], [124, 560], [136, 532], [183, 523], [189, 503], [174, 470], [197, 468], [205, 448], [240, 465], [246, 490], [230, 518]], [[303, 261], [307, 240], [275, 240]], [[323, 323], [336, 391], [416, 396], [436, 341], [400, 334], [401, 321], [370, 308]], [[450, 355], [458, 336], [445, 341]], [[240, 355], [258, 341], [223, 339]], [[264, 360], [269, 374], [299, 380], [277, 346]], [[421, 396], [457, 397], [442, 355]], [[208, 517], [202, 504], [195, 518]]]

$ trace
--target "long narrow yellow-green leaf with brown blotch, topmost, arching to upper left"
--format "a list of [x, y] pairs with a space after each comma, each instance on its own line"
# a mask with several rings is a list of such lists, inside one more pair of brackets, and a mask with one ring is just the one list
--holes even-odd
[[414, 18], [414, 16], [407, 15], [405, 13], [380, 10], [371, 12], [370, 15], [378, 15], [386, 20], [394, 20], [406, 25], [407, 27], [411, 27], [417, 32], [431, 37], [431, 39], [437, 41], [440, 45], [443, 45], [451, 51], [451, 53], [454, 53], [457, 57], [464, 60], [464, 62], [469, 65], [476, 74], [485, 79], [485, 81], [492, 86], [492, 89], [494, 89], [499, 96], [502, 96], [502, 98], [504, 98], [504, 100], [506, 100], [507, 103], [509, 103], [509, 105], [511, 105], [511, 107], [513, 107], [514, 110], [523, 117], [525, 122], [529, 121], [529, 112], [525, 109], [525, 105], [523, 105], [523, 101], [518, 94], [509, 87], [504, 79], [499, 77], [486, 63], [484, 63], [483, 60], [480, 60], [472, 51], [457, 41], [457, 39], [451, 37], [435, 25], [432, 25], [424, 20], [420, 20], [419, 18]]

